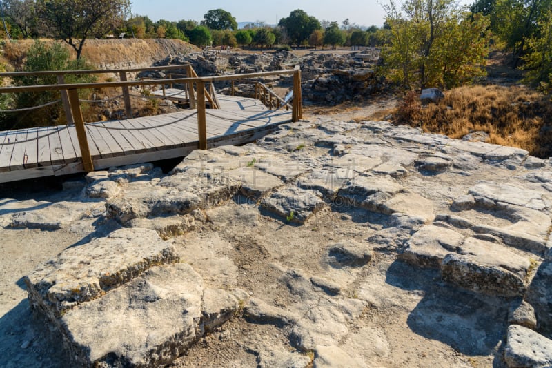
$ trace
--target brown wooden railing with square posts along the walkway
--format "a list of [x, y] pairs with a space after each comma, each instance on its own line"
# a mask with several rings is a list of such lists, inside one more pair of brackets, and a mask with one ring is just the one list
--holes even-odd
[[[141, 72], [149, 70], [175, 70], [186, 68], [188, 75], [195, 75], [186, 78], [169, 78], [169, 79], [155, 79], [144, 81], [126, 81], [126, 73], [128, 72]], [[102, 73], [114, 73], [118, 72], [121, 81], [119, 82], [97, 82], [97, 83], [64, 83], [63, 76], [68, 74], [102, 74]], [[128, 88], [135, 86], [145, 86], [152, 84], [188, 84], [188, 90], [190, 91], [190, 108], [197, 108], [197, 130], [199, 149], [207, 149], [207, 132], [206, 132], [206, 105], [205, 101], [208, 99], [211, 106], [216, 105], [213, 97], [206, 92], [206, 85], [210, 83], [213, 85], [219, 81], [235, 81], [238, 79], [253, 79], [264, 76], [276, 76], [276, 75], [293, 75], [293, 103], [292, 103], [292, 121], [298, 121], [302, 117], [302, 98], [301, 98], [301, 70], [299, 67], [295, 67], [293, 70], [277, 70], [273, 72], [259, 72], [248, 74], [233, 74], [224, 76], [203, 76], [199, 77], [193, 71], [191, 65], [170, 65], [159, 68], [135, 68], [135, 69], [121, 69], [121, 70], [72, 70], [72, 71], [59, 71], [59, 72], [8, 72], [0, 73], [0, 76], [23, 76], [23, 75], [56, 75], [58, 76], [57, 85], [30, 85], [21, 87], [5, 87], [0, 88], [0, 93], [19, 93], [19, 92], [44, 92], [44, 91], [60, 91], [62, 99], [65, 99], [64, 103], [65, 112], [67, 114], [68, 121], [72, 121], [75, 124], [75, 130], [77, 131], [77, 138], [79, 140], [79, 147], [81, 148], [82, 161], [84, 170], [87, 172], [94, 170], [92, 163], [92, 157], [90, 156], [90, 149], [88, 147], [88, 139], [86, 137], [86, 129], [82, 116], [78, 90], [90, 89], [90, 88], [121, 88], [123, 90], [123, 96], [125, 100], [127, 116], [132, 117], [132, 110], [130, 105], [130, 94]], [[196, 88], [194, 89], [194, 83]], [[193, 91], [197, 91], [197, 101], [194, 101]], [[63, 94], [66, 94], [63, 97]], [[272, 95], [271, 95], [272, 96]]]

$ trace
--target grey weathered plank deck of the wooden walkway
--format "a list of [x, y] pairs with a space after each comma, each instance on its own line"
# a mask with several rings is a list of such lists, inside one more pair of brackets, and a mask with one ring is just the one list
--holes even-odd
[[[291, 121], [257, 99], [217, 96], [206, 110], [208, 147], [248, 143]], [[186, 156], [198, 147], [197, 110], [86, 124], [95, 170]], [[0, 132], [0, 183], [83, 172], [73, 125]]]

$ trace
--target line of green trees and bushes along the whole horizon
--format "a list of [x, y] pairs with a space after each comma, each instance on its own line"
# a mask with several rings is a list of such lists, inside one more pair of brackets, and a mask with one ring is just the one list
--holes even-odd
[[204, 19], [152, 21], [132, 15], [129, 0], [4, 0], [5, 36], [52, 37], [79, 59], [89, 38], [172, 38], [199, 47], [308, 45], [380, 46], [382, 70], [404, 89], [453, 88], [485, 74], [489, 47], [509, 50], [527, 79], [552, 90], [552, 0], [388, 0], [384, 26], [367, 29], [342, 21], [319, 21], [293, 10], [275, 26], [252, 23], [242, 30], [230, 12], [209, 10]]

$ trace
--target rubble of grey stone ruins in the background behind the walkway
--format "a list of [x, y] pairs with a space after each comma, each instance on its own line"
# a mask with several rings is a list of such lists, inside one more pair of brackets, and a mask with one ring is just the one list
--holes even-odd
[[[237, 54], [229, 52], [201, 52], [168, 57], [157, 65], [190, 64], [200, 76], [221, 74], [244, 74], [290, 69], [299, 65], [302, 73], [302, 95], [304, 104], [337, 105], [344, 101], [369, 99], [384, 88], [384, 78], [376, 76], [373, 67], [378, 61], [379, 51], [369, 50], [368, 57], [351, 54], [318, 54], [312, 52], [297, 57], [291, 52], [257, 52]], [[184, 74], [184, 71], [182, 71]], [[144, 77], [161, 78], [163, 73], [146, 72]], [[270, 77], [263, 82], [290, 88], [289, 76]], [[229, 83], [215, 85], [222, 93], [229, 93]], [[251, 96], [254, 88], [247, 83], [238, 84], [236, 94]]]

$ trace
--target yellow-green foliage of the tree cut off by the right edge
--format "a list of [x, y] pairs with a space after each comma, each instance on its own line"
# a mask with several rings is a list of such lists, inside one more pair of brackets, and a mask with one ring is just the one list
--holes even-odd
[[525, 81], [543, 92], [552, 92], [552, 10], [538, 23], [540, 34], [527, 41], [531, 50], [524, 57]]

